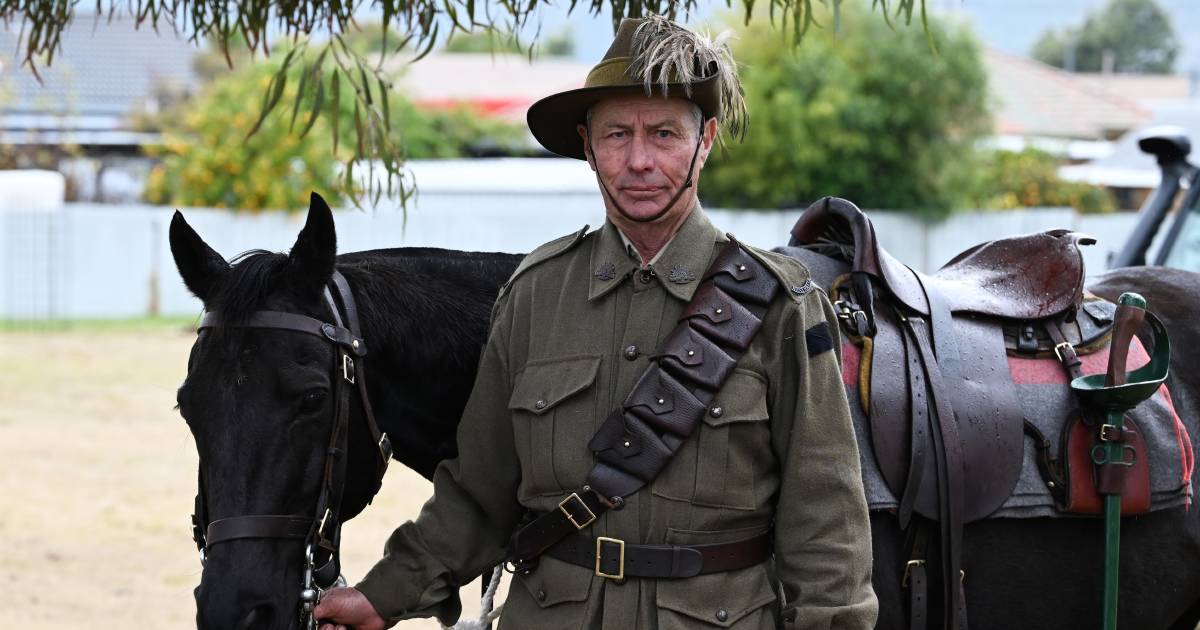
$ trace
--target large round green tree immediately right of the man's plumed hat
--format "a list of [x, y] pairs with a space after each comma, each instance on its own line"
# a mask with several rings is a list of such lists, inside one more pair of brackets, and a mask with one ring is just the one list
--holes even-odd
[[990, 127], [973, 36], [930, 19], [930, 54], [922, 29], [893, 32], [846, 8], [839, 22], [794, 49], [761, 24], [739, 34], [750, 126], [709, 160], [707, 204], [798, 208], [836, 194], [936, 216], [965, 203]]

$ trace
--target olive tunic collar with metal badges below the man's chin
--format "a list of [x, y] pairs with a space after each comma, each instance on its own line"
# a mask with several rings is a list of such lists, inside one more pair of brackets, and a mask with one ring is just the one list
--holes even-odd
[[[708, 269], [713, 248], [720, 240], [724, 240], [721, 234], [697, 205], [647, 269], [653, 270], [654, 277], [667, 293], [679, 300], [689, 301], [696, 293], [701, 275]], [[625, 238], [617, 226], [612, 221], [605, 221], [592, 248], [588, 299], [594, 300], [607, 294], [637, 271], [641, 268], [640, 263], [637, 252], [626, 247]]]

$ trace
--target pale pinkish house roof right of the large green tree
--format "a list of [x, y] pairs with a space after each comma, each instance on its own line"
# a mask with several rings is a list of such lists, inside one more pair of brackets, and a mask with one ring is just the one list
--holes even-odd
[[984, 52], [996, 98], [996, 133], [1112, 139], [1150, 121], [1151, 112], [1090, 77], [994, 48]]

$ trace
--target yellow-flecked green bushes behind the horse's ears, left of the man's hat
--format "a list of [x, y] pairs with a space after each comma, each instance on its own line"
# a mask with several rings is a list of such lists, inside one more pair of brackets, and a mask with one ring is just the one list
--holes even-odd
[[[259, 119], [264, 88], [283, 56], [242, 65], [162, 116], [164, 140], [158, 149], [161, 163], [148, 181], [149, 202], [254, 211], [305, 208], [311, 190], [322, 191], [335, 204], [348, 200], [350, 191], [368, 191], [370, 182], [353, 170], [367, 154], [360, 144], [367, 136], [355, 133], [355, 127], [368, 119], [350, 97], [355, 88], [348, 82], [332, 82], [336, 91], [322, 90], [300, 100], [295, 95], [301, 85], [287, 83], [278, 97], [295, 107]], [[524, 131], [518, 126], [461, 109], [422, 112], [395, 90], [383, 94], [388, 104], [380, 107], [392, 120], [385, 133], [404, 148], [402, 158], [523, 146]], [[314, 110], [337, 115], [313, 116]], [[336, 120], [337, 132], [330, 120]]]

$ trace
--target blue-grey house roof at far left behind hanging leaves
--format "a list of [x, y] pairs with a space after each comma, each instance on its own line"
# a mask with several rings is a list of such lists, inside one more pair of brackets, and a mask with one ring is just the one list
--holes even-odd
[[196, 44], [166, 28], [157, 32], [148, 26], [136, 29], [127, 17], [76, 17], [62, 35], [54, 62], [38, 66], [41, 83], [22, 65], [19, 34], [19, 23], [0, 26], [4, 114], [71, 116], [95, 128], [126, 118], [154, 95], [158, 83], [191, 86], [197, 80], [192, 70]]

